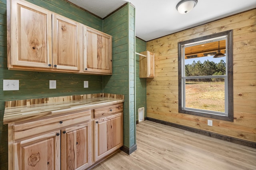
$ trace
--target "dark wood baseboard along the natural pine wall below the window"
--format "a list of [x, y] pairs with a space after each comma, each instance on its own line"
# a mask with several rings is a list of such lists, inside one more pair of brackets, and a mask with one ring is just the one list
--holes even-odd
[[186, 130], [186, 131], [198, 133], [198, 134], [205, 135], [205, 136], [208, 136], [208, 137], [221, 139], [223, 141], [228, 141], [228, 142], [236, 143], [236, 144], [239, 144], [239, 145], [244, 145], [246, 147], [256, 148], [256, 143], [254, 143], [254, 142], [244, 141], [242, 139], [236, 139], [234, 137], [228, 137], [228, 136], [220, 135], [220, 134], [217, 134], [217, 133], [203, 131], [203, 130], [200, 130], [200, 129], [195, 129], [195, 128], [187, 127], [187, 126], [184, 126], [184, 125], [178, 125], [178, 124], [175, 124], [175, 123], [170, 123], [170, 122], [167, 122], [167, 121], [162, 121], [162, 120], [158, 120], [158, 119], [154, 119], [154, 118], [150, 118], [150, 117], [146, 117], [146, 120], [153, 121], [153, 122], [160, 123], [160, 124], [167, 125], [167, 126], [171, 126], [171, 127], [176, 127], [178, 129], [183, 129], [183, 130]]

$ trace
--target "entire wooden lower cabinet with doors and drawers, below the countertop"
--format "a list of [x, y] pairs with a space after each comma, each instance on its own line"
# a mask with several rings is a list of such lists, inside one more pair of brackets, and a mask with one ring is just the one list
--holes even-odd
[[14, 122], [8, 129], [9, 170], [85, 170], [122, 147], [123, 104]]

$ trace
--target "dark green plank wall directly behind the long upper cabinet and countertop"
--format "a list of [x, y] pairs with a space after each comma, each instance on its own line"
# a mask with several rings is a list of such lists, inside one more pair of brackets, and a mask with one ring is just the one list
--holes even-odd
[[[101, 19], [64, 0], [28, 1], [102, 31]], [[3, 125], [6, 100], [103, 92], [102, 76], [8, 70], [6, 44], [6, 0], [0, 0], [0, 170], [8, 169], [8, 129]], [[20, 90], [3, 91], [3, 79], [20, 80]], [[57, 89], [49, 89], [49, 80], [57, 80]], [[83, 88], [84, 80], [89, 80], [89, 88]]]

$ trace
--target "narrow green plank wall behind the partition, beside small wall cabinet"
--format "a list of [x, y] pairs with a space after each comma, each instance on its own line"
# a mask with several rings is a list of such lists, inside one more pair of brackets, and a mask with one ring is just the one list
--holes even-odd
[[[146, 51], [146, 41], [136, 37], [136, 52], [141, 53]], [[146, 117], [146, 78], [139, 78], [139, 59], [140, 56], [136, 55], [136, 121], [138, 121], [138, 109], [144, 107], [144, 117]]]

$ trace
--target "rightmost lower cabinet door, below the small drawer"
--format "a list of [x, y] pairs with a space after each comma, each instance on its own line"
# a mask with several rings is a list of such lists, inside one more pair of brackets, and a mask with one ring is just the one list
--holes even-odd
[[94, 131], [94, 156], [97, 161], [122, 147], [122, 113], [94, 120]]

